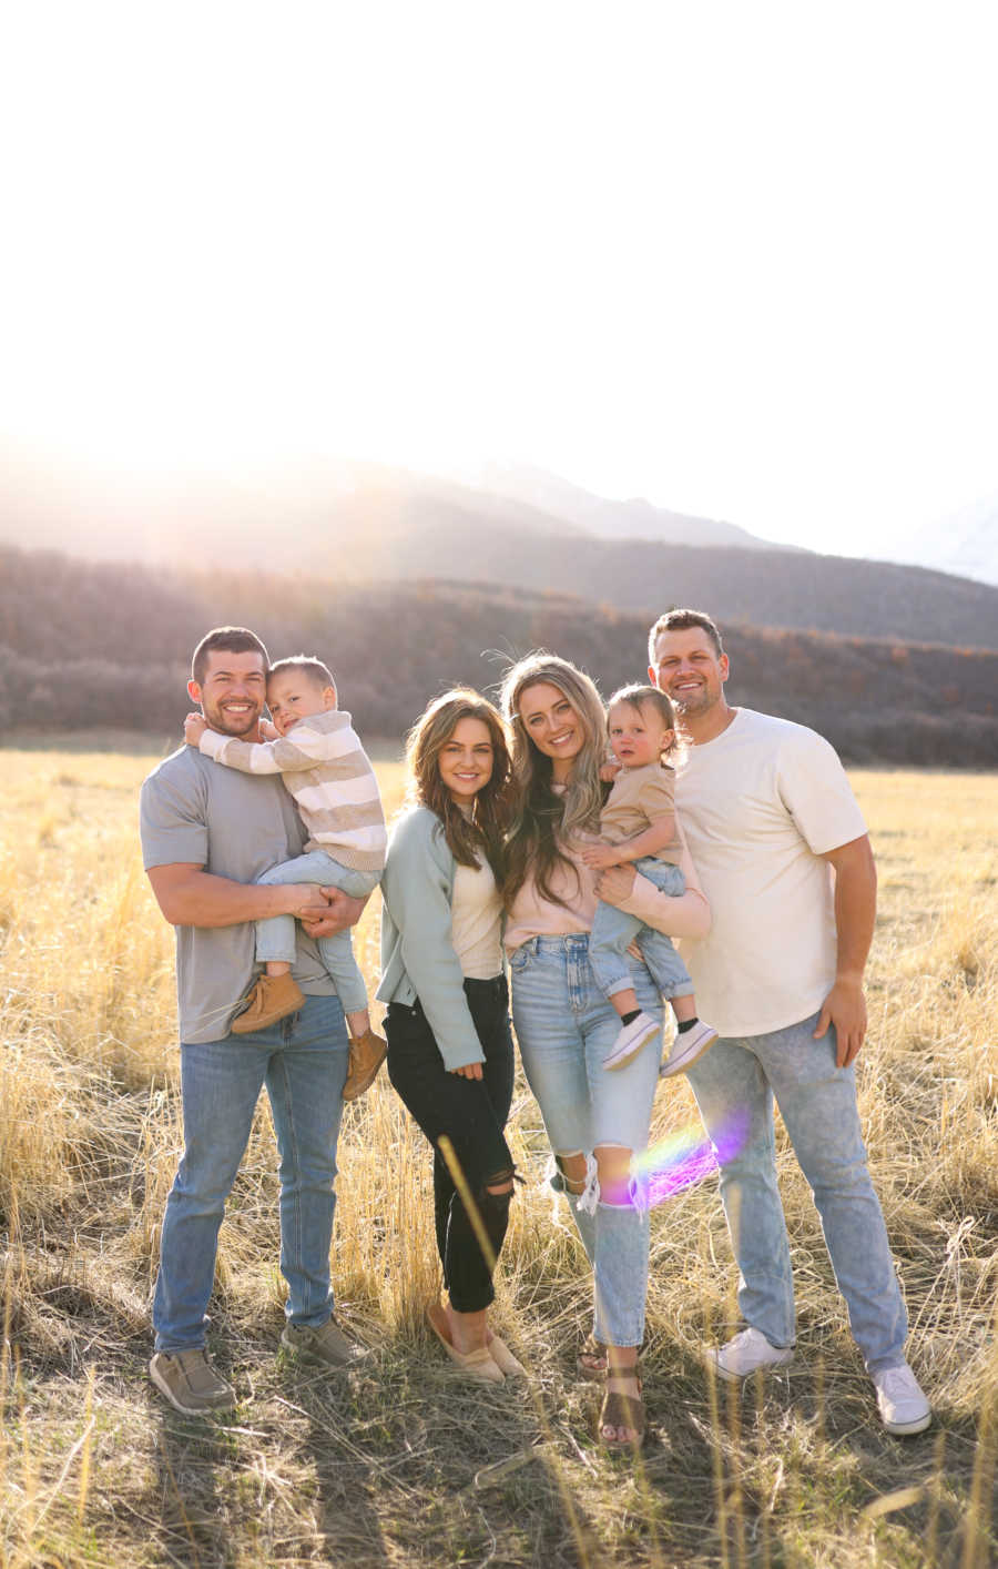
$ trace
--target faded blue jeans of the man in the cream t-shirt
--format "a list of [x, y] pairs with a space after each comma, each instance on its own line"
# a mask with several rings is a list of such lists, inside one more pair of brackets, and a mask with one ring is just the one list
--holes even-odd
[[849, 1326], [869, 1373], [904, 1362], [907, 1313], [880, 1203], [866, 1169], [852, 1067], [818, 1014], [767, 1036], [717, 1040], [689, 1070], [714, 1145], [744, 1117], [744, 1144], [720, 1166], [720, 1199], [739, 1268], [738, 1305], [774, 1346], [794, 1343], [794, 1283], [777, 1188], [772, 1106], [807, 1177]]

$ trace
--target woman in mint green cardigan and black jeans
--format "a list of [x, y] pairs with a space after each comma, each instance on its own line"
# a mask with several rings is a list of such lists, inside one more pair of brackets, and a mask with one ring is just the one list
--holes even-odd
[[[447, 692], [414, 725], [406, 763], [410, 805], [392, 828], [381, 879], [388, 1076], [433, 1145], [447, 1301], [430, 1304], [427, 1318], [468, 1378], [502, 1382], [523, 1373], [486, 1318], [513, 1194], [504, 1138], [513, 1042], [497, 890], [510, 794], [505, 725], [477, 692]], [[441, 1155], [443, 1138], [488, 1249]]]

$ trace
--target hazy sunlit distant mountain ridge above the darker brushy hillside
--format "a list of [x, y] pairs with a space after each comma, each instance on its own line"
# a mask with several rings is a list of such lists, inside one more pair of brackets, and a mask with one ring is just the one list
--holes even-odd
[[[592, 501], [595, 513], [574, 516], [598, 522]], [[648, 527], [647, 511], [654, 510], [625, 504], [615, 529]], [[673, 515], [656, 516], [665, 530]], [[287, 475], [273, 485], [248, 477], [242, 486], [126, 493], [113, 504], [88, 501], [72, 485], [28, 502], [5, 491], [0, 469], [0, 541], [152, 570], [195, 562], [224, 574], [232, 563], [286, 573], [300, 563], [320, 581], [449, 577], [571, 593], [642, 615], [662, 604], [709, 604], [722, 621], [998, 648], [998, 588], [987, 584], [763, 541], [708, 544], [717, 526], [679, 524], [683, 543], [675, 532], [606, 538], [523, 499], [364, 464], [350, 475], [300, 475], [297, 485]]]

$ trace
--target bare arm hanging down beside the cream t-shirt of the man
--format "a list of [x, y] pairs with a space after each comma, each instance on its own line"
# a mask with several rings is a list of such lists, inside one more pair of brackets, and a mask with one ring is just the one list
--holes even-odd
[[863, 971], [877, 918], [877, 866], [869, 835], [825, 850], [821, 857], [835, 869], [835, 932], [838, 956], [835, 985], [821, 1004], [814, 1039], [835, 1025], [836, 1064], [847, 1068], [866, 1039]]

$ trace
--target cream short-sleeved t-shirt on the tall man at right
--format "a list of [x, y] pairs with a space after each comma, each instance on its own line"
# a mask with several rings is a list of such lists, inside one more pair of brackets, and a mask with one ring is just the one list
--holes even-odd
[[681, 945], [700, 1017], [728, 1037], [810, 1018], [838, 946], [821, 855], [866, 833], [835, 750], [805, 725], [739, 708], [689, 748], [676, 808], [714, 916]]

